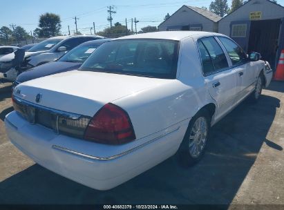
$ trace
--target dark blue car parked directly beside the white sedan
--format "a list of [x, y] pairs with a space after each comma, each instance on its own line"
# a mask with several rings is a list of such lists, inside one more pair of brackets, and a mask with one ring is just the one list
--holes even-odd
[[21, 73], [14, 82], [14, 86], [31, 79], [79, 68], [79, 66], [81, 66], [81, 64], [93, 53], [96, 48], [98, 48], [104, 42], [110, 40], [111, 39], [97, 39], [94, 41], [84, 42], [60, 57], [57, 61], [51, 61], [47, 64], [30, 68], [30, 70]]

